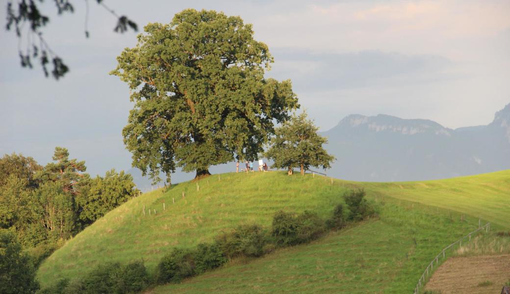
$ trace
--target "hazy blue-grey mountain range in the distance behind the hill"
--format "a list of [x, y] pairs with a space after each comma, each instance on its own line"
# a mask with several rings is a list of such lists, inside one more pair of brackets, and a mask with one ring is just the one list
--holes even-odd
[[[489, 125], [450, 129], [425, 119], [353, 114], [321, 135], [329, 140], [325, 148], [337, 157], [326, 171], [335, 178], [411, 181], [510, 169], [510, 104]], [[232, 172], [235, 164], [210, 171]], [[151, 181], [138, 169], [128, 172], [139, 189], [151, 189]], [[194, 173], [177, 172], [172, 182], [193, 177]]]

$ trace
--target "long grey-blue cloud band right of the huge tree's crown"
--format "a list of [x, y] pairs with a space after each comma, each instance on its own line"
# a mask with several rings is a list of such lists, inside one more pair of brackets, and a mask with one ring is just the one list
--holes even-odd
[[268, 75], [291, 78], [294, 88], [304, 92], [430, 83], [450, 77], [453, 65], [441, 56], [395, 52], [319, 54], [293, 48], [272, 52], [276, 62]]

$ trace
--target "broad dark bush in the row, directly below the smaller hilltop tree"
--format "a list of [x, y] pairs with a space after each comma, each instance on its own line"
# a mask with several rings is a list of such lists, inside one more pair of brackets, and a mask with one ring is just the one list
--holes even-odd
[[271, 235], [278, 246], [308, 243], [324, 233], [325, 224], [315, 212], [304, 211], [301, 215], [278, 211], [273, 217]]

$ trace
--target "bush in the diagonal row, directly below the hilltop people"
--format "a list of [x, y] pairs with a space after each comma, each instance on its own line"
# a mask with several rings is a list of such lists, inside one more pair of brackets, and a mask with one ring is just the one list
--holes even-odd
[[216, 237], [216, 244], [228, 258], [262, 256], [266, 243], [265, 231], [261, 226], [254, 224], [239, 226], [231, 232], [223, 232]]

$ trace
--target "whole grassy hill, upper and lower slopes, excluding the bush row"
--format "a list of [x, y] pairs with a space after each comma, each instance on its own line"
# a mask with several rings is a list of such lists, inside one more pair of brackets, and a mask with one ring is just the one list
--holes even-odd
[[[509, 181], [510, 171], [406, 183], [331, 182], [283, 172], [215, 175], [123, 204], [43, 262], [38, 277], [45, 285], [56, 278], [77, 277], [100, 262], [141, 258], [154, 270], [173, 247], [210, 241], [221, 229], [241, 223], [269, 226], [279, 209], [308, 209], [326, 217], [346, 189], [364, 187], [369, 197], [384, 202], [379, 220], [152, 291], [412, 291], [430, 257], [476, 227], [477, 216], [508, 228], [504, 220], [510, 217]], [[455, 211], [468, 217], [461, 222]]]

